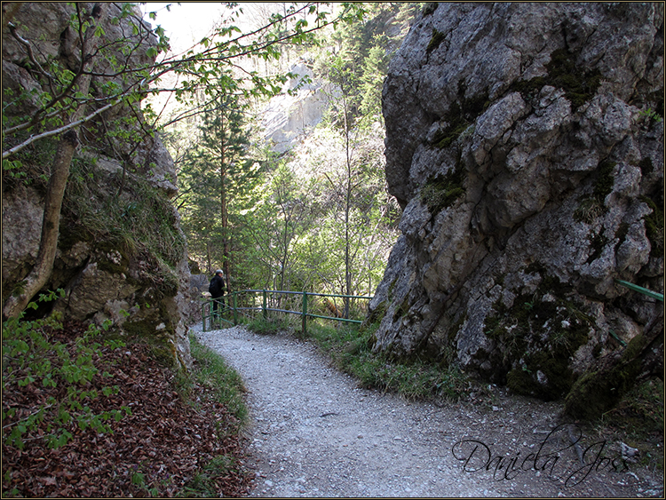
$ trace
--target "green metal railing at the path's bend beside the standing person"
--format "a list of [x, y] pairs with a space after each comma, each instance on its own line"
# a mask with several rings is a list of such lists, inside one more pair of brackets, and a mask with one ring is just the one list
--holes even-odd
[[[255, 306], [254, 305], [254, 299], [252, 300], [252, 305], [248, 306], [239, 306], [239, 296], [241, 294], [261, 294], [261, 306]], [[300, 296], [301, 301], [300, 301], [300, 306], [301, 310], [300, 311], [293, 311], [290, 309], [282, 309], [280, 307], [272, 307], [269, 305], [269, 296], [275, 296], [275, 295], [287, 295], [287, 296]], [[256, 297], [256, 296], [255, 296]], [[308, 312], [308, 306], [309, 306], [309, 299], [308, 298], [313, 298], [313, 297], [321, 297], [321, 298], [348, 298], [350, 300], [358, 300], [358, 299], [363, 299], [363, 300], [369, 300], [372, 297], [367, 297], [367, 296], [358, 296], [358, 295], [336, 295], [336, 294], [329, 294], [329, 293], [311, 293], [311, 292], [306, 292], [306, 291], [287, 291], [287, 290], [241, 290], [241, 291], [234, 291], [230, 295], [225, 296], [225, 304], [220, 305], [222, 309], [222, 313], [217, 313], [213, 314], [212, 311], [212, 303], [213, 299], [208, 299], [205, 302], [202, 303], [202, 321], [203, 321], [203, 331], [207, 331], [206, 329], [206, 324], [212, 328], [216, 323], [221, 327], [222, 322], [226, 322], [231, 325], [237, 325], [238, 324], [238, 317], [239, 314], [244, 314], [249, 311], [261, 311], [262, 316], [264, 319], [268, 319], [268, 313], [269, 312], [274, 312], [274, 313], [288, 313], [288, 314], [300, 314], [302, 318], [301, 322], [301, 329], [303, 334], [307, 333], [307, 319], [308, 318], [319, 318], [322, 320], [333, 320], [333, 321], [343, 321], [343, 322], [348, 322], [348, 323], [357, 323], [361, 324], [361, 320], [352, 320], [349, 318], [343, 318], [340, 316], [324, 316], [321, 314], [314, 314]], [[229, 301], [231, 301], [231, 304], [229, 304]], [[246, 301], [250, 303], [250, 301]], [[337, 309], [337, 306], [335, 304], [333, 305], [334, 308]], [[232, 317], [233, 320], [226, 319], [228, 317]]]

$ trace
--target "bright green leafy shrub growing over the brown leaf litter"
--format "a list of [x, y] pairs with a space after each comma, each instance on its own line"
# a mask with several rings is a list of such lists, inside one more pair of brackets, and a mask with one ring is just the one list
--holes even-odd
[[[42, 294], [39, 302], [50, 301], [57, 294]], [[36, 309], [32, 302], [29, 308]], [[63, 329], [59, 315], [47, 319], [23, 321], [12, 318], [3, 323], [3, 443], [23, 449], [26, 440], [45, 440], [49, 448], [59, 448], [72, 437], [75, 427], [93, 428], [98, 433], [110, 431], [107, 422], [130, 414], [127, 407], [95, 414], [91, 401], [117, 392], [115, 385], [91, 385], [93, 378], [109, 377], [99, 370], [102, 344], [100, 329], [91, 325], [74, 341], [59, 338]], [[123, 344], [107, 341], [112, 347]], [[96, 388], [97, 387], [97, 388]], [[8, 401], [41, 398], [41, 403], [25, 409]]]

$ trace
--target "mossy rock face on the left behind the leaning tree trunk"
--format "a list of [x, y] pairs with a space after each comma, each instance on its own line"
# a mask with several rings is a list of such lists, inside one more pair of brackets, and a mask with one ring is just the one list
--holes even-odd
[[[92, 4], [84, 5], [92, 8]], [[75, 70], [76, 33], [69, 28], [73, 12], [74, 6], [69, 4], [25, 3], [12, 22], [44, 65], [47, 60], [57, 60]], [[132, 42], [132, 37], [142, 36], [127, 65], [149, 63], [148, 49], [155, 41], [147, 35], [149, 27], [140, 20], [141, 13], [137, 10], [117, 20], [119, 14], [119, 6], [111, 4], [108, 22], [102, 27], [102, 44]], [[118, 60], [124, 57], [120, 52], [115, 55]], [[4, 27], [3, 89], [12, 89], [13, 95], [34, 90], [36, 97], [48, 91], [28, 68], [25, 45]], [[103, 63], [95, 69], [99, 73], [109, 70]], [[109, 81], [94, 77], [91, 89]], [[122, 74], [115, 79], [119, 85], [132, 82], [131, 76], [128, 79]], [[20, 116], [34, 109], [35, 101], [28, 99], [5, 107], [5, 112]], [[123, 121], [136, 115], [140, 121], [138, 108], [112, 108], [103, 121], [86, 125], [79, 135], [82, 147], [67, 185], [58, 253], [46, 288], [66, 291], [66, 297], [54, 307], [67, 316], [99, 323], [113, 320], [124, 332], [157, 339], [168, 355], [188, 367], [191, 358], [184, 311], [190, 274], [178, 213], [170, 203], [177, 193], [174, 164], [157, 137], [139, 142], [104, 137], [123, 127], [117, 118]], [[115, 123], [112, 131], [106, 128], [108, 123]], [[128, 132], [131, 126], [136, 124], [127, 125]], [[4, 175], [3, 300], [36, 259], [44, 211], [44, 182], [40, 179], [48, 177], [52, 147], [45, 140], [20, 156], [27, 178]], [[44, 172], [45, 176], [36, 175]], [[153, 219], [154, 224], [140, 226]], [[105, 220], [122, 221], [123, 227], [99, 226]], [[154, 227], [155, 231], [141, 233], [136, 227]], [[163, 248], [157, 248], [155, 242], [162, 242]]]

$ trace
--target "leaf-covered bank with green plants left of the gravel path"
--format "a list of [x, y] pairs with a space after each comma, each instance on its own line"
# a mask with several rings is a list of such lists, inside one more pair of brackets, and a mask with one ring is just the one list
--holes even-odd
[[184, 373], [56, 313], [4, 321], [3, 497], [247, 494], [242, 381], [191, 346]]

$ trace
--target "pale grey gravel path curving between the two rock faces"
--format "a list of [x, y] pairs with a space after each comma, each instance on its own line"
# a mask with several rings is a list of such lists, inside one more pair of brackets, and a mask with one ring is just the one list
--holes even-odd
[[583, 435], [572, 446], [577, 427], [558, 427], [554, 403], [494, 386], [490, 402], [408, 402], [359, 388], [287, 334], [193, 332], [248, 390], [252, 496], [663, 495], [662, 480], [623, 460], [619, 443]]

